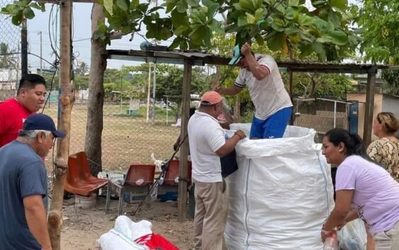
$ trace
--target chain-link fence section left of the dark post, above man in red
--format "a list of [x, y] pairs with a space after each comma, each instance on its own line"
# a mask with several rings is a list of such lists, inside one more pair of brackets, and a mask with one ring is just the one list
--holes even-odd
[[[0, 6], [12, 4], [0, 0]], [[0, 100], [15, 96], [21, 78], [21, 27], [13, 25], [9, 16], [0, 15]]]

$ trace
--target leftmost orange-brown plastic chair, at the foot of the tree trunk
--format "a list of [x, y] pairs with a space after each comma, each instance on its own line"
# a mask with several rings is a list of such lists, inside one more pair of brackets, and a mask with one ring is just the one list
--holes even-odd
[[[84, 157], [82, 157], [82, 153]], [[86, 159], [86, 163], [83, 162], [83, 159]], [[86, 167], [84, 164], [86, 164]], [[84, 152], [72, 154], [68, 157], [67, 180], [64, 184], [66, 191], [77, 195], [90, 196], [91, 193], [106, 186], [106, 184], [106, 179], [91, 176]]]

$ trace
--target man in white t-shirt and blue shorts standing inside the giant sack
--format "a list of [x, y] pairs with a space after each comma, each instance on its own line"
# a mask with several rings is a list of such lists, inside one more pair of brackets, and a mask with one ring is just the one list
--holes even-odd
[[235, 84], [226, 89], [216, 87], [215, 91], [234, 96], [247, 86], [256, 110], [249, 138], [281, 138], [291, 119], [293, 105], [279, 67], [270, 55], [253, 55], [248, 43], [242, 45], [241, 54], [242, 69]]

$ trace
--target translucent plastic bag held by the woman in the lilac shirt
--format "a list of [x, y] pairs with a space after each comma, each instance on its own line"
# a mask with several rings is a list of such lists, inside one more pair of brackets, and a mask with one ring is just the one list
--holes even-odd
[[338, 232], [339, 249], [366, 250], [367, 234], [364, 222], [360, 219], [352, 220]]

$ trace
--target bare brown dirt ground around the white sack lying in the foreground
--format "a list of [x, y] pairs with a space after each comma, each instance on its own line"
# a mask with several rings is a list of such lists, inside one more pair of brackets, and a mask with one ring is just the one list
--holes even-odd
[[[161, 234], [181, 250], [189, 250], [193, 244], [193, 222], [177, 222], [176, 202], [153, 202], [138, 216], [130, 216], [137, 204], [123, 204], [123, 212], [133, 221], [149, 220], [152, 231]], [[110, 212], [106, 215], [106, 198], [97, 198], [95, 208], [82, 209], [74, 205], [74, 198], [64, 200], [64, 225], [61, 232], [62, 250], [100, 249], [96, 240], [113, 228], [118, 215], [118, 201], [111, 200]], [[122, 249], [121, 249], [122, 250]]]

